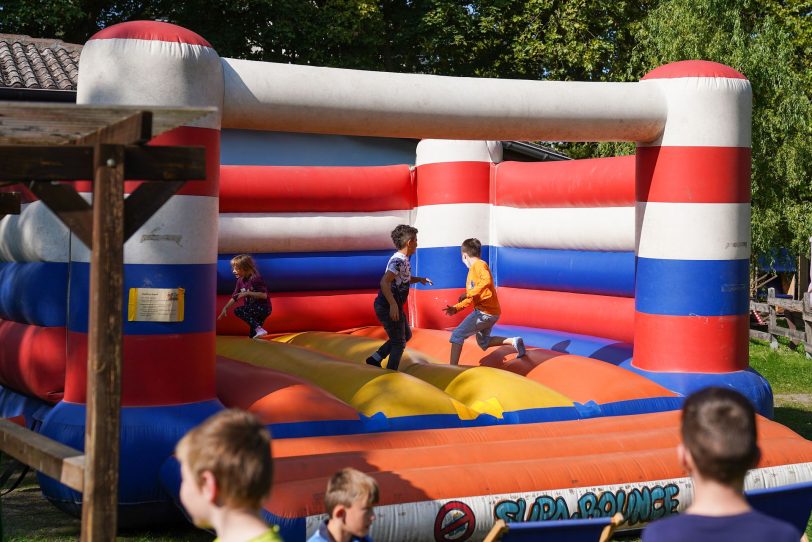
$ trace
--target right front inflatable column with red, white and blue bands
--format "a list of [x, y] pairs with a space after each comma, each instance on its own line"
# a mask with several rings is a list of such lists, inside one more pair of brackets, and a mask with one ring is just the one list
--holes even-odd
[[637, 148], [633, 365], [723, 373], [748, 366], [750, 82], [713, 62], [668, 64], [662, 135]]

